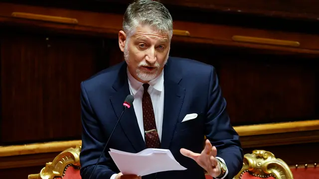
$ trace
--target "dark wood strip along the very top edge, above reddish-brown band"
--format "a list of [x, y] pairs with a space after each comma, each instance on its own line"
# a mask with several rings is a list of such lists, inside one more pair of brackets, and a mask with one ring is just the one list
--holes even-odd
[[[0, 0], [38, 4], [42, 6], [56, 6], [76, 9], [112, 11], [123, 13], [125, 7], [133, 0]], [[258, 15], [280, 18], [298, 18], [303, 20], [317, 20], [318, 2], [313, 0], [158, 0], [173, 11], [196, 9], [200, 11], [220, 12], [223, 15]]]

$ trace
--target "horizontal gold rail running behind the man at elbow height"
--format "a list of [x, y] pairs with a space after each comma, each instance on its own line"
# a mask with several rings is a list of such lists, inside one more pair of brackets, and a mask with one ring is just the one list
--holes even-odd
[[[244, 137], [244, 136], [253, 137], [257, 135], [268, 135], [268, 134], [277, 134], [277, 133], [286, 133], [286, 132], [312, 131], [312, 130], [319, 130], [319, 120], [235, 126], [234, 129], [238, 132], [239, 136], [241, 137]], [[303, 141], [304, 140], [305, 139], [303, 139]], [[245, 143], [246, 146], [250, 146], [249, 142], [254, 142], [254, 141], [251, 141], [251, 140], [243, 141], [243, 143]], [[260, 142], [261, 141], [258, 141], [258, 143]], [[273, 141], [271, 143], [273, 144]], [[70, 147], [75, 147], [78, 144], [82, 144], [82, 141], [81, 140], [54, 141], [54, 142], [36, 143], [36, 144], [27, 144], [27, 145], [2, 146], [2, 147], [0, 146], [0, 157], [61, 152]]]

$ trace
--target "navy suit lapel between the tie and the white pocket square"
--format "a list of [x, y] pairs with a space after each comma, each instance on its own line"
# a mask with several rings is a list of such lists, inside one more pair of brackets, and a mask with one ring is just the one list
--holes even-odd
[[[174, 134], [176, 123], [183, 104], [185, 89], [179, 86], [180, 71], [168, 59], [164, 69], [164, 113], [162, 124], [161, 148], [168, 149]], [[177, 71], [177, 73], [176, 73]]]

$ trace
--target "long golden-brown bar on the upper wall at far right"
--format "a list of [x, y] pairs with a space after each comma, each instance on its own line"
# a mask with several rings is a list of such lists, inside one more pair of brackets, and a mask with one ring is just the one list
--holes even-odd
[[232, 36], [232, 40], [235, 42], [249, 42], [249, 43], [257, 43], [257, 44], [280, 45], [280, 46], [290, 46], [290, 47], [300, 46], [300, 42], [297, 42], [297, 41], [248, 37], [248, 36], [240, 36], [240, 35]]

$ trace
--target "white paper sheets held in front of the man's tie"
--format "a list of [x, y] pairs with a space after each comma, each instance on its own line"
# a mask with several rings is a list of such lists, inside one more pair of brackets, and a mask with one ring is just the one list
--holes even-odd
[[157, 172], [186, 170], [166, 149], [145, 149], [128, 153], [110, 149], [110, 155], [123, 175], [146, 176]]

